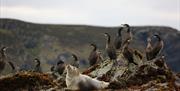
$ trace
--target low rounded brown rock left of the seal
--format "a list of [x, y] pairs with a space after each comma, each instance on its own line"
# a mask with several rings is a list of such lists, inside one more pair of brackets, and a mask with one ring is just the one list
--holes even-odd
[[18, 72], [0, 78], [2, 91], [41, 90], [56, 86], [50, 75], [37, 72]]

